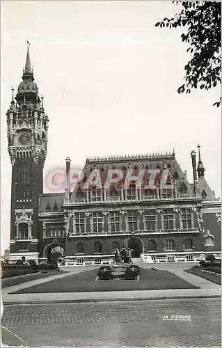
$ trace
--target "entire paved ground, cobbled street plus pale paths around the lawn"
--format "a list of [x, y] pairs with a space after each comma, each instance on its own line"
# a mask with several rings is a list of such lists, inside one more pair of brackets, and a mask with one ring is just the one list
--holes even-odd
[[[9, 294], [95, 267], [58, 274], [2, 290], [2, 340], [6, 345], [219, 347], [221, 286], [188, 274], [193, 264], [142, 264], [180, 276], [196, 289], [128, 292]], [[171, 319], [187, 315], [190, 320]]]

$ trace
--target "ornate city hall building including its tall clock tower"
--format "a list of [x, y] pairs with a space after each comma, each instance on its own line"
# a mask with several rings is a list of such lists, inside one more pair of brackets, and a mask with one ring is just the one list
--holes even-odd
[[[29, 47], [22, 82], [15, 100], [13, 90], [6, 116], [12, 164], [10, 262], [22, 256], [45, 262], [55, 247], [63, 249], [67, 265], [111, 263], [115, 248], [122, 247], [132, 248], [134, 258], [144, 262], [196, 261], [207, 253], [220, 257], [221, 202], [205, 180], [200, 146], [198, 158], [191, 152], [193, 182], [173, 151], [88, 158], [71, 190], [67, 158], [64, 192], [43, 193], [49, 118]], [[109, 171], [113, 175], [106, 187]], [[120, 180], [115, 173], [122, 173]]]

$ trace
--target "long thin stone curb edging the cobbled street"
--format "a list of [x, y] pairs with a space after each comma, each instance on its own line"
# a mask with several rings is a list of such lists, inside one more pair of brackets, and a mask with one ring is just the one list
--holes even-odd
[[150, 300], [166, 300], [166, 299], [213, 299], [220, 298], [221, 295], [178, 295], [178, 296], [148, 296], [148, 297], [116, 297], [113, 299], [63, 299], [63, 300], [35, 300], [35, 301], [10, 301], [4, 302], [3, 305], [23, 305], [23, 304], [42, 304], [42, 303], [85, 303], [85, 302], [116, 302], [116, 301], [150, 301]]

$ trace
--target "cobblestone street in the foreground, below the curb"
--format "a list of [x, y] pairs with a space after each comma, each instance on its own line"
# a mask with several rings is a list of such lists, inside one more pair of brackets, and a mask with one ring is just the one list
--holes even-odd
[[[191, 320], [163, 320], [189, 315]], [[3, 342], [53, 346], [220, 346], [219, 299], [8, 305]], [[17, 335], [17, 336], [15, 336]]]

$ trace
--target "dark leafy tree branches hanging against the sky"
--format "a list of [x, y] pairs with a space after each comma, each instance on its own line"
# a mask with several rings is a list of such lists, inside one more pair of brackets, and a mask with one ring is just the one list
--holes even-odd
[[[189, 44], [191, 60], [185, 65], [185, 83], [178, 93], [191, 93], [191, 88], [209, 90], [221, 84], [221, 1], [173, 1], [182, 5], [175, 17], [164, 18], [155, 26], [177, 28], [184, 26], [183, 42]], [[219, 107], [219, 102], [213, 105]]]

